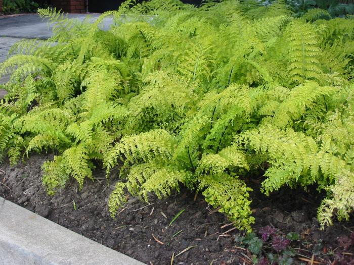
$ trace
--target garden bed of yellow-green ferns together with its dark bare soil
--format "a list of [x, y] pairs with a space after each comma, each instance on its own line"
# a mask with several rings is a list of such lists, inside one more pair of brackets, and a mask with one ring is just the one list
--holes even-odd
[[30, 156], [0, 195], [150, 264], [354, 265], [354, 20], [251, 2], [39, 9], [53, 36], [0, 65], [0, 157]]

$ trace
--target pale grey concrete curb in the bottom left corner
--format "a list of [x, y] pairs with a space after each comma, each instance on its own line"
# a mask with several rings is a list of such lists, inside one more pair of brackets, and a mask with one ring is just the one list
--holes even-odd
[[144, 265], [0, 197], [0, 265]]

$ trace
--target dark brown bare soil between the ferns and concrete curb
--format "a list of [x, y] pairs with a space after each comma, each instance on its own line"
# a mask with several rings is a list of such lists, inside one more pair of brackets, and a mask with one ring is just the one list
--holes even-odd
[[[202, 196], [194, 201], [195, 194], [182, 189], [163, 200], [152, 198], [150, 205], [130, 197], [114, 220], [109, 216], [107, 201], [116, 178], [112, 177], [107, 186], [105, 172], [97, 171], [96, 180], [87, 181], [81, 191], [73, 181], [51, 197], [40, 179], [42, 163], [51, 158], [52, 155], [32, 155], [13, 168], [4, 163], [0, 167], [0, 196], [147, 264], [170, 264], [172, 253], [177, 255], [190, 246], [194, 247], [174, 257], [174, 264], [252, 264], [245, 257], [249, 253], [235, 247], [234, 235], [239, 231], [233, 230], [227, 233], [230, 236], [219, 237], [232, 226], [221, 228], [230, 222], [213, 211]], [[298, 249], [296, 257], [312, 257], [314, 248], [322, 242], [323, 249], [322, 246], [320, 251], [317, 249], [315, 261], [332, 264], [331, 250], [337, 247], [340, 236], [349, 236], [353, 221], [336, 221], [332, 227], [321, 231], [316, 220], [321, 195], [315, 189], [308, 192], [283, 189], [268, 198], [259, 192], [255, 180], [249, 185], [255, 189], [251, 194], [256, 218], [254, 231], [271, 225], [285, 234], [299, 233], [301, 242], [294, 247], [304, 250]], [[185, 209], [184, 213], [169, 226], [182, 209]], [[298, 264], [300, 260], [296, 257]]]

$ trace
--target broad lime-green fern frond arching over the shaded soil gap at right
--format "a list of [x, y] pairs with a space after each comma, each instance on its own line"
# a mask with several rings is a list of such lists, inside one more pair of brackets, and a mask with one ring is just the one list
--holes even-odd
[[272, 166], [265, 172], [268, 178], [262, 183], [266, 194], [285, 184], [332, 183], [336, 174], [347, 167], [326, 145], [319, 147], [312, 137], [291, 129], [281, 131], [270, 125], [262, 126], [244, 133], [239, 141], [268, 156]]

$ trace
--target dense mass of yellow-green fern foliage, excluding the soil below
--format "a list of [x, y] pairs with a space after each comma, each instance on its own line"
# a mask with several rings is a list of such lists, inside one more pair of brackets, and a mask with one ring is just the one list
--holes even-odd
[[[17, 43], [0, 107], [0, 152], [54, 150], [53, 194], [95, 166], [121, 167], [112, 216], [126, 192], [148, 200], [182, 185], [251, 229], [247, 179], [262, 191], [317, 185], [322, 226], [347, 219], [354, 197], [354, 20], [324, 10], [296, 18], [284, 1], [126, 2], [95, 23], [39, 10], [46, 41]], [[103, 31], [105, 17], [115, 20]], [[344, 188], [343, 188], [344, 187]]]

